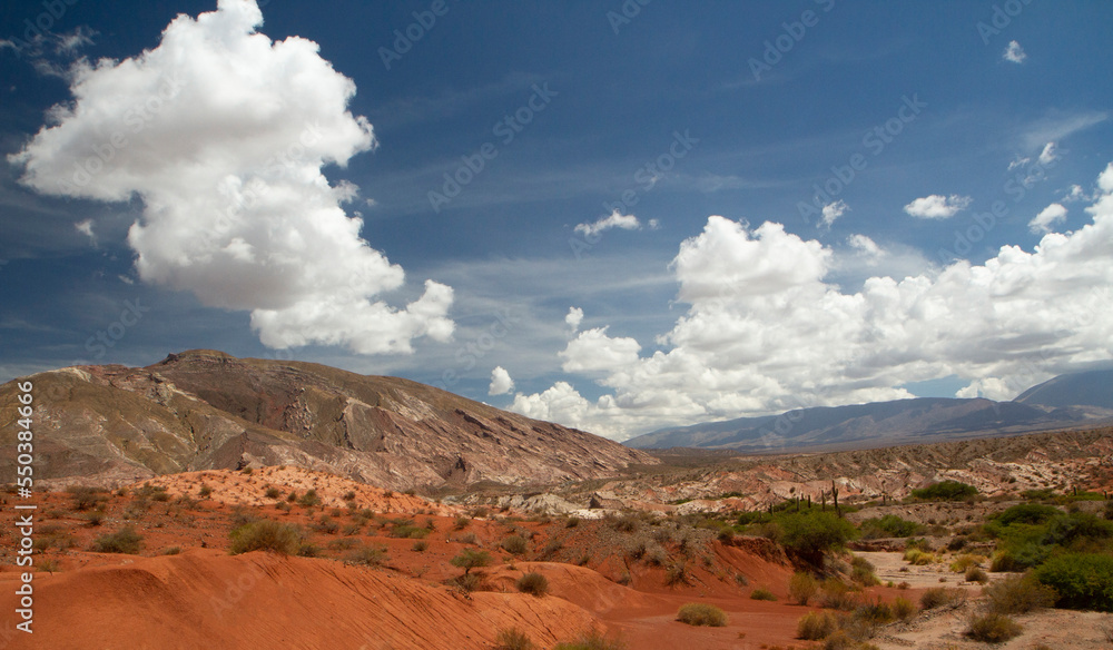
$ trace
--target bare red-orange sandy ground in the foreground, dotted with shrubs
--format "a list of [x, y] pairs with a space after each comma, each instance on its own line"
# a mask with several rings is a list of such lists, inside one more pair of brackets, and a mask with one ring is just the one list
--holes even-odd
[[[213, 493], [197, 503], [155, 501], [145, 513], [131, 513], [134, 519], [126, 520], [125, 511], [135, 504], [132, 490], [128, 496], [111, 496], [97, 526], [72, 510], [70, 494], [38, 495], [36, 536], [51, 544], [35, 557], [33, 634], [13, 630], [14, 590], [22, 570], [14, 567], [14, 515], [10, 508], [3, 509], [0, 648], [490, 650], [498, 631], [512, 627], [525, 631], [540, 648], [572, 640], [591, 628], [620, 637], [631, 650], [814, 646], [794, 639], [797, 620], [808, 610], [788, 602], [792, 567], [759, 540], [740, 540], [737, 545], [711, 542], [703, 561], [688, 563], [690, 583], [667, 587], [664, 569], [628, 562], [621, 549], [607, 545], [603, 522], [583, 521], [577, 526], [577, 539], [599, 540], [583, 549], [591, 555], [585, 565], [528, 562], [550, 536], [568, 532], [560, 522], [471, 519], [459, 529], [461, 513], [453, 506], [296, 469], [270, 467], [249, 476], [201, 472], [151, 483], [166, 485], [173, 495], [196, 499], [201, 484]], [[284, 499], [262, 496], [272, 485], [284, 496], [292, 487], [298, 494], [314, 487], [326, 504], [314, 516], [332, 513], [342, 525], [352, 521], [343, 506], [343, 495], [349, 491], [356, 492], [358, 508], [370, 508], [380, 518], [351, 535], [312, 533], [321, 558], [229, 555], [228, 531], [237, 516], [307, 526], [306, 509], [295, 505], [284, 512], [276, 508]], [[415, 525], [429, 525], [431, 520], [434, 530], [424, 551], [414, 549], [415, 540], [388, 536], [391, 526], [384, 518], [403, 516]], [[89, 551], [95, 538], [126, 524], [144, 535], [140, 555]], [[523, 558], [499, 546], [513, 530], [534, 535], [532, 551]], [[475, 535], [474, 542], [461, 540], [469, 533]], [[346, 543], [385, 546], [390, 559], [374, 569], [346, 563], [347, 551], [336, 548], [345, 538]], [[494, 565], [476, 570], [484, 577], [483, 590], [464, 593], [446, 585], [461, 573], [449, 560], [476, 545], [495, 558]], [[162, 554], [170, 548], [181, 551]], [[43, 561], [53, 573], [45, 570]], [[548, 595], [518, 593], [514, 582], [526, 571], [548, 578]], [[629, 572], [628, 587], [614, 581], [622, 571]], [[738, 573], [748, 585], [736, 582]], [[769, 588], [778, 601], [751, 600], [749, 593], [758, 585]], [[907, 595], [870, 590], [871, 597], [886, 600], [897, 593]], [[728, 626], [693, 628], [677, 622], [677, 610], [687, 602], [722, 608]]]

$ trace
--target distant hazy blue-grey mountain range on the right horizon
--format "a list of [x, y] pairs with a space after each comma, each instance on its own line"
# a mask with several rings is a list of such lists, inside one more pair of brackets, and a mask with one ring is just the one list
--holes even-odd
[[800, 408], [663, 429], [634, 449], [701, 447], [745, 453], [833, 451], [943, 442], [1113, 423], [1113, 370], [1060, 375], [1011, 402], [922, 397]]

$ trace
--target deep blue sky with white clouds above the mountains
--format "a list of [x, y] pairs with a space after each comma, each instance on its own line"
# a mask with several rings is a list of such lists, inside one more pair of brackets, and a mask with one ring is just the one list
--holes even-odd
[[262, 4], [0, 10], [0, 380], [219, 348], [623, 439], [1113, 356], [1109, 3]]

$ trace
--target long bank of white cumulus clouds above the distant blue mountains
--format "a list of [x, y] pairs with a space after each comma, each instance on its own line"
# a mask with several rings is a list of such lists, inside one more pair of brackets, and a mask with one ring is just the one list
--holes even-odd
[[969, 383], [962, 396], [1004, 398], [1107, 362], [1113, 165], [1097, 185], [1102, 194], [1087, 208], [1093, 221], [1050, 233], [1032, 252], [1004, 246], [983, 265], [870, 277], [854, 293], [826, 282], [839, 260], [818, 242], [779, 224], [750, 228], [709, 217], [673, 260], [688, 309], [658, 337], [661, 349], [640, 356], [632, 338], [583, 332], [561, 353], [564, 370], [601, 375], [607, 393], [591, 401], [560, 382], [516, 395], [513, 408], [623, 439], [666, 425], [910, 397], [903, 385], [948, 376]]

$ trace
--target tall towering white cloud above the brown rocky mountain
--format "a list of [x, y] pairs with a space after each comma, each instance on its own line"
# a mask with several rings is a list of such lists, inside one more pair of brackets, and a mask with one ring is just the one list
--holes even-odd
[[73, 101], [10, 160], [45, 194], [128, 200], [142, 218], [128, 242], [148, 283], [205, 304], [252, 311], [268, 346], [346, 345], [410, 352], [451, 337], [452, 289], [427, 282], [405, 308], [377, 299], [404, 273], [359, 237], [328, 164], [375, 146], [353, 116], [351, 79], [313, 41], [257, 33], [254, 0], [177, 17], [159, 46], [70, 71]]

